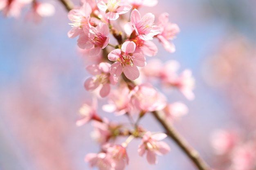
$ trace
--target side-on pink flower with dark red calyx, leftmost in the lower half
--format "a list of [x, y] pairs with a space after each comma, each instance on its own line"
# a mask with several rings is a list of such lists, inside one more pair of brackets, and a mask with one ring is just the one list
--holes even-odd
[[76, 121], [77, 126], [82, 126], [90, 120], [101, 121], [101, 118], [97, 115], [97, 100], [93, 98], [92, 103], [87, 102], [79, 109], [81, 119]]

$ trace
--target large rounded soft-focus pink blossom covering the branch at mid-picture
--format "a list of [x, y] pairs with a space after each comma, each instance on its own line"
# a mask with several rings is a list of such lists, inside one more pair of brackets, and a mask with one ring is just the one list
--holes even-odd
[[132, 104], [139, 110], [152, 112], [162, 110], [166, 106], [166, 98], [159, 93], [151, 84], [135, 86], [130, 92]]

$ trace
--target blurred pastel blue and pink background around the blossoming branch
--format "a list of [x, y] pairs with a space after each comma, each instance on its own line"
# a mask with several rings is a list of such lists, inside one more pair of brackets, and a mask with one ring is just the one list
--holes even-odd
[[[26, 8], [19, 18], [0, 16], [0, 170], [85, 170], [85, 155], [99, 150], [90, 137], [90, 124], [75, 124], [79, 108], [91, 97], [83, 88], [88, 77], [85, 56], [79, 53], [76, 38], [67, 37], [67, 11], [58, 1], [50, 3], [55, 14], [38, 23], [25, 19]], [[216, 170], [255, 169], [253, 153], [241, 161], [234, 158], [237, 147], [224, 155], [214, 150], [218, 144], [231, 148], [233, 143], [255, 149], [255, 7], [255, 0], [159, 0], [153, 8], [141, 8], [142, 14], [152, 12], [156, 18], [168, 12], [170, 21], [180, 27], [173, 40], [176, 52], [168, 53], [158, 44], [155, 57], [177, 60], [180, 71], [192, 70], [195, 99], [188, 101], [177, 91], [169, 96], [171, 102], [181, 101], [189, 108], [174, 126]], [[149, 130], [153, 125], [161, 131], [151, 115], [142, 122]], [[222, 142], [214, 142], [211, 134], [216, 129], [232, 131], [236, 142], [225, 135]], [[140, 141], [135, 140], [126, 169], [196, 169], [173, 141], [165, 141], [171, 152], [151, 166], [138, 156]], [[248, 164], [248, 157], [253, 166], [234, 164]]]

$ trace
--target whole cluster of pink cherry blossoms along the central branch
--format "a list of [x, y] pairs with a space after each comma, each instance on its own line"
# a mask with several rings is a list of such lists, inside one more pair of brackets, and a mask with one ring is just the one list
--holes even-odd
[[[76, 124], [82, 126], [92, 121], [92, 137], [101, 144], [101, 150], [86, 155], [85, 161], [100, 170], [123, 170], [129, 163], [127, 147], [132, 139], [141, 139], [138, 154], [146, 155], [150, 164], [157, 163], [157, 155], [169, 152], [170, 147], [161, 141], [167, 135], [150, 132], [139, 121], [146, 113], [160, 110], [171, 124], [185, 115], [188, 108], [181, 102], [168, 104], [167, 97], [150, 79], [159, 80], [166, 88], [179, 89], [188, 99], [194, 98], [191, 71], [177, 74], [178, 63], [173, 60], [164, 66], [153, 60], [146, 64], [146, 57], [157, 54], [154, 38], [173, 53], [175, 46], [171, 40], [180, 31], [177, 24], [169, 22], [168, 13], [160, 14], [156, 21], [153, 13], [139, 12], [140, 7], [156, 4], [157, 0], [82, 0], [80, 6], [68, 13], [72, 26], [68, 37], [78, 37], [78, 47], [94, 62], [86, 66], [92, 76], [85, 80], [85, 89], [99, 98], [108, 98], [103, 111], [126, 115], [130, 121], [128, 125], [117, 124], [101, 117], [97, 97], [79, 110], [81, 118]], [[117, 143], [119, 137], [127, 139]]]

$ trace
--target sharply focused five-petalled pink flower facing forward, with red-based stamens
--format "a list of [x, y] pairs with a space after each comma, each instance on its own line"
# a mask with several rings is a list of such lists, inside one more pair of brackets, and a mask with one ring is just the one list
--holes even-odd
[[110, 61], [117, 61], [110, 67], [110, 74], [119, 76], [124, 71], [124, 75], [131, 80], [139, 77], [137, 66], [146, 65], [146, 58], [140, 53], [133, 53], [136, 44], [132, 41], [126, 41], [122, 44], [121, 49], [115, 49], [108, 54]]

